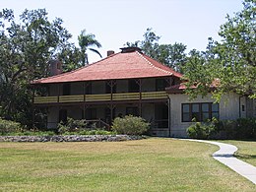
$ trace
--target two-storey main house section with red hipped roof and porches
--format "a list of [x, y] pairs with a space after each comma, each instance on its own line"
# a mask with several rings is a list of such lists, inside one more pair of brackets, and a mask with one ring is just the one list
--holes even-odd
[[[57, 74], [60, 68], [53, 63]], [[34, 80], [32, 85], [46, 95], [34, 96], [33, 106], [47, 111], [47, 128], [67, 117], [111, 124], [117, 116], [132, 114], [151, 122], [151, 134], [169, 136], [165, 88], [180, 84], [181, 76], [137, 47], [121, 48], [81, 69]]]

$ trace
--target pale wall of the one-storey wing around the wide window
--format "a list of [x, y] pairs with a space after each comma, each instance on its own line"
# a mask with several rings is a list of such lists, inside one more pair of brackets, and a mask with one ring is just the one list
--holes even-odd
[[[202, 96], [197, 96], [197, 98], [193, 100], [189, 100], [187, 95], [184, 94], [176, 94], [169, 95], [170, 98], [170, 131], [171, 137], [187, 137], [186, 129], [191, 125], [191, 122], [182, 122], [181, 117], [181, 104], [182, 103], [193, 103], [193, 102], [214, 102], [215, 99], [209, 94], [204, 98]], [[239, 107], [239, 99], [240, 105], [245, 104], [245, 97], [240, 97], [237, 94], [226, 94], [221, 102], [220, 102], [220, 119], [236, 119], [241, 117], [245, 117], [246, 112], [239, 112], [241, 106]]]

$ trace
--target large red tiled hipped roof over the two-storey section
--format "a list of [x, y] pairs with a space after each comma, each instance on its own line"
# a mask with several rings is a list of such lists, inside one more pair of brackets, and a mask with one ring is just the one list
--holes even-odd
[[32, 84], [119, 80], [153, 77], [182, 77], [167, 66], [139, 52], [112, 54], [96, 63], [57, 76], [32, 81]]

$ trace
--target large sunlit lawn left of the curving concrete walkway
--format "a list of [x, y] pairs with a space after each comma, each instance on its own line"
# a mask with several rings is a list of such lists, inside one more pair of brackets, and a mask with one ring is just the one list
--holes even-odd
[[171, 139], [0, 143], [0, 191], [256, 191], [211, 154]]

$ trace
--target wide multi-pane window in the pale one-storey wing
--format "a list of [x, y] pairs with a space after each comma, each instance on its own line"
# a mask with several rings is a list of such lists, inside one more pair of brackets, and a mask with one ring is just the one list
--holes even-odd
[[203, 103], [183, 103], [182, 122], [191, 122], [193, 118], [196, 121], [206, 121], [213, 117], [219, 119], [219, 104], [213, 102]]

